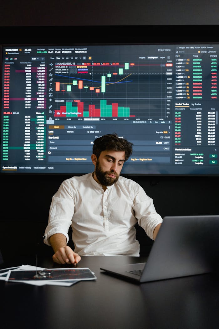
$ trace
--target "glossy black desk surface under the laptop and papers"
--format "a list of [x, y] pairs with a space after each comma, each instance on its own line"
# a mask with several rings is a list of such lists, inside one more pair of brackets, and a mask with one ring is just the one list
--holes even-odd
[[[207, 329], [219, 328], [219, 277], [212, 274], [127, 282], [102, 272], [106, 263], [144, 262], [143, 257], [83, 256], [97, 280], [71, 287], [0, 281], [1, 329]], [[35, 265], [34, 260], [10, 264]], [[1, 268], [9, 264], [1, 265]], [[51, 258], [41, 267], [58, 267]]]

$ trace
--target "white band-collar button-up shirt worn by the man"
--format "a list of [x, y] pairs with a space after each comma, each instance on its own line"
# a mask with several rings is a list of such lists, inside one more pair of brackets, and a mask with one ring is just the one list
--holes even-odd
[[153, 239], [162, 223], [153, 200], [131, 179], [119, 180], [104, 191], [92, 173], [66, 179], [52, 198], [44, 242], [62, 233], [69, 240], [72, 227], [75, 252], [79, 255], [139, 256], [135, 224]]

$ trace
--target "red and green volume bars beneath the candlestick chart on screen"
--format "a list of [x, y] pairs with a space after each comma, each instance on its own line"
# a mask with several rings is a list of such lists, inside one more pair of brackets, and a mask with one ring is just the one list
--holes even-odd
[[[75, 105], [76, 104], [76, 105]], [[107, 105], [106, 99], [100, 100], [99, 108], [96, 105], [88, 105], [88, 111], [84, 110], [84, 102], [66, 102], [55, 110], [55, 117], [135, 117], [130, 115], [130, 108], [119, 106], [118, 103]]]

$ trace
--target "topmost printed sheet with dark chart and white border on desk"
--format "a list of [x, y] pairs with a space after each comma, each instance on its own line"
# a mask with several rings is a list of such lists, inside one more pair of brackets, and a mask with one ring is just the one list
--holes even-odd
[[53, 268], [40, 271], [9, 271], [6, 281], [68, 281], [68, 280], [95, 280], [95, 274], [87, 267], [84, 268]]

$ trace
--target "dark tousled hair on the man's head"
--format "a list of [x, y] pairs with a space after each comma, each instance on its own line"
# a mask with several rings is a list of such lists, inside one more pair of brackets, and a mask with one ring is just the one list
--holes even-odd
[[103, 135], [94, 140], [93, 154], [99, 158], [102, 151], [125, 151], [125, 161], [132, 154], [133, 143], [127, 139], [120, 138], [116, 133]]

